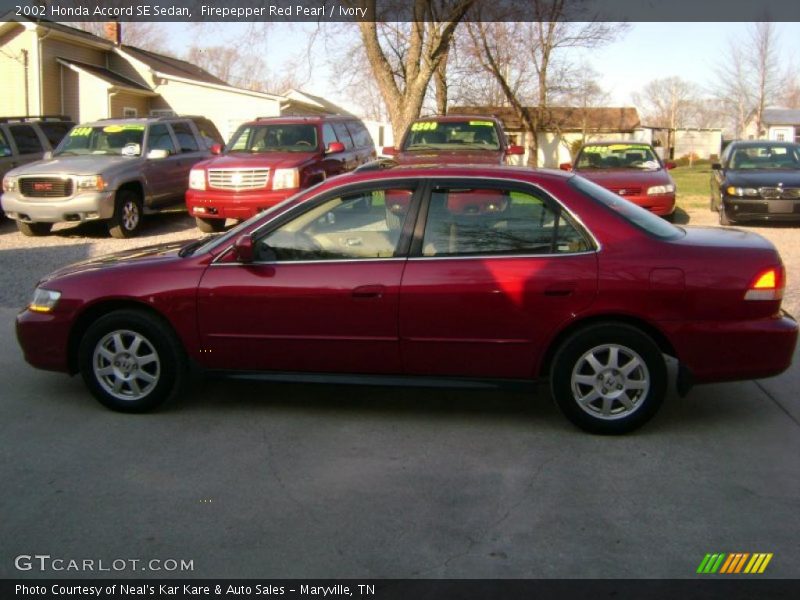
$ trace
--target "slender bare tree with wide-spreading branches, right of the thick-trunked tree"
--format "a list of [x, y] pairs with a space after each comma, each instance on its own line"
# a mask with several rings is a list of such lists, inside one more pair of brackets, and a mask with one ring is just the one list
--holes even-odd
[[[481, 5], [481, 10], [484, 6]], [[538, 134], [547, 120], [550, 100], [567, 91], [563, 85], [563, 75], [570, 70], [567, 51], [606, 44], [627, 27], [591, 19], [582, 22], [571, 20], [577, 14], [573, 11], [579, 8], [581, 3], [575, 0], [531, 0], [524, 5], [510, 6], [512, 11], [524, 11], [518, 20], [527, 22], [512, 22], [512, 13], [501, 15], [504, 22], [487, 23], [487, 15], [479, 13], [479, 19], [467, 26], [481, 67], [498, 82], [509, 106], [529, 132], [528, 163], [532, 166], [538, 163]], [[496, 14], [493, 12], [492, 16]], [[582, 15], [581, 18], [588, 19], [588, 16]], [[529, 88], [515, 89], [514, 81], [522, 81], [525, 77], [509, 68], [510, 56], [525, 57], [525, 69], [532, 70], [535, 87], [533, 107], [528, 105]]]

